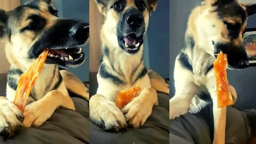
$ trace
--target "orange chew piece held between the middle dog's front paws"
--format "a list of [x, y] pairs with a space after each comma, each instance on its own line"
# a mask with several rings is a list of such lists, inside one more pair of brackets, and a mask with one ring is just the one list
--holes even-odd
[[140, 91], [141, 87], [138, 85], [135, 85], [134, 87], [132, 87], [132, 89], [127, 91], [120, 91], [116, 99], [116, 106], [119, 109], [122, 109], [129, 102], [131, 102]]

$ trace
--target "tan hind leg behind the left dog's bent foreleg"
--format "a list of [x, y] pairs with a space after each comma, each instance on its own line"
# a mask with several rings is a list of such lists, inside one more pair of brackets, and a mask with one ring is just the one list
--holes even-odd
[[60, 74], [68, 90], [77, 95], [80, 95], [81, 97], [89, 101], [88, 89], [77, 76], [75, 76], [67, 70], [60, 70]]

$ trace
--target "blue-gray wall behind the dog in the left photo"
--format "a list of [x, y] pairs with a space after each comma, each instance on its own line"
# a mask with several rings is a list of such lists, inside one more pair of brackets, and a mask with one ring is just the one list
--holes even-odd
[[[25, 4], [30, 0], [21, 0]], [[59, 10], [59, 17], [66, 19], [79, 19], [89, 22], [89, 0], [54, 0], [53, 5]], [[83, 65], [77, 68], [69, 68], [82, 81], [89, 82], [89, 45], [82, 47], [86, 54]]]

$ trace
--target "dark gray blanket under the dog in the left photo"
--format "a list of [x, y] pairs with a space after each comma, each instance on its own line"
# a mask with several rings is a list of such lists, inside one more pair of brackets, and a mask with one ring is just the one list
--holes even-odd
[[76, 111], [59, 108], [41, 127], [21, 127], [15, 137], [2, 138], [0, 143], [89, 143], [89, 102], [77, 97], [72, 99]]

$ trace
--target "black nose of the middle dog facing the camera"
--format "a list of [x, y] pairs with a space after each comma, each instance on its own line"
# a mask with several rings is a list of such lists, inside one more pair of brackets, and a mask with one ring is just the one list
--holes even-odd
[[140, 26], [142, 26], [143, 18], [138, 14], [132, 14], [126, 18], [126, 23], [131, 28], [139, 28]]

